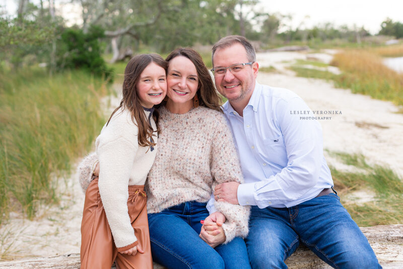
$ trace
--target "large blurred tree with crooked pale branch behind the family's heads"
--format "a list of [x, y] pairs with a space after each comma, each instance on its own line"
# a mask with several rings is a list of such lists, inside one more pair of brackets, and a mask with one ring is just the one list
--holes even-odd
[[[239, 4], [253, 6], [258, 0], [80, 0], [84, 31], [95, 24], [111, 41], [112, 62], [125, 46], [144, 44], [157, 51], [194, 43], [211, 44], [228, 34], [245, 33], [252, 27]], [[241, 21], [240, 21], [241, 20]], [[243, 21], [242, 21], [243, 20]]]

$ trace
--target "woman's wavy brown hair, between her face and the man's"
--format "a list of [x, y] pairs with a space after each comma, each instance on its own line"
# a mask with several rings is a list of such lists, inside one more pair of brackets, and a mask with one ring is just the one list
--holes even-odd
[[198, 86], [196, 94], [199, 100], [199, 105], [207, 106], [210, 109], [222, 112], [221, 98], [214, 87], [210, 72], [207, 69], [199, 53], [191, 47], [180, 47], [172, 50], [165, 61], [167, 61], [169, 65], [169, 61], [178, 56], [186, 57], [196, 67], [198, 76]]

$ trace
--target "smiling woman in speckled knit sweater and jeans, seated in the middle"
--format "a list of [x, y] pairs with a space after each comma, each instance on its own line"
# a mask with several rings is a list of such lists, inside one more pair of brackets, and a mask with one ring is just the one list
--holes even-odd
[[225, 243], [200, 239], [200, 221], [217, 184], [242, 182], [232, 134], [200, 55], [191, 48], [167, 57], [167, 96], [158, 112], [158, 152], [146, 182], [153, 260], [167, 268], [250, 268], [244, 241], [249, 208], [226, 202], [218, 228]]

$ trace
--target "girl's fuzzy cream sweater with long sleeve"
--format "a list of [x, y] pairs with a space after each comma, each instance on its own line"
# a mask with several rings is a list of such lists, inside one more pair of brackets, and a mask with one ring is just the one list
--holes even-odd
[[[145, 111], [148, 117], [150, 112]], [[151, 125], [156, 125], [151, 117]], [[99, 194], [117, 248], [137, 241], [127, 209], [128, 185], [144, 185], [157, 147], [139, 146], [138, 127], [127, 110], [119, 110], [102, 128], [95, 145], [100, 164]], [[153, 137], [157, 142], [157, 136]]]

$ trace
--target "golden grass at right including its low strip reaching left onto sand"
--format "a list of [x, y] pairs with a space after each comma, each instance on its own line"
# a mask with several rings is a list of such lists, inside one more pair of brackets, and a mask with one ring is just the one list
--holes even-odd
[[[402, 52], [399, 52], [400, 49]], [[297, 61], [290, 69], [299, 77], [331, 80], [335, 87], [351, 89], [353, 93], [366, 94], [375, 99], [403, 105], [403, 74], [386, 67], [381, 57], [395, 56], [398, 53], [403, 53], [403, 45], [344, 50], [335, 54], [330, 63], [340, 69], [342, 72], [340, 75], [307, 68], [303, 65], [324, 67], [324, 64], [303, 60]], [[403, 109], [399, 112], [403, 113]]]

